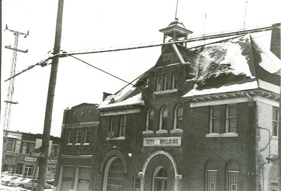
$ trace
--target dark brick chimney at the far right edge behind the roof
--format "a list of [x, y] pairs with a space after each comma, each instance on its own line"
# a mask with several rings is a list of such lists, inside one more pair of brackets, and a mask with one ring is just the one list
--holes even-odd
[[280, 59], [280, 23], [272, 26], [276, 27], [271, 31], [270, 51]]

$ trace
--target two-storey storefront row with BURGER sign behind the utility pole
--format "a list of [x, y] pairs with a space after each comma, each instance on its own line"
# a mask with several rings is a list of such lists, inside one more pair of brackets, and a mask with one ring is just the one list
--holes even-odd
[[[42, 145], [42, 134], [32, 134], [20, 131], [8, 131], [3, 142], [2, 171], [13, 171], [25, 177], [33, 177], [36, 166], [36, 157], [30, 157], [34, 149]], [[47, 178], [54, 178], [58, 157], [60, 137], [50, 136]], [[36, 170], [38, 176], [39, 167]]]

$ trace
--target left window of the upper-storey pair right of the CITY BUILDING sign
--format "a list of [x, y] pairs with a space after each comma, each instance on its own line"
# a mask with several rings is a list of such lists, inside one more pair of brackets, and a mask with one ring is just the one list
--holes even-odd
[[210, 134], [219, 133], [220, 126], [220, 107], [211, 106], [210, 109]]

